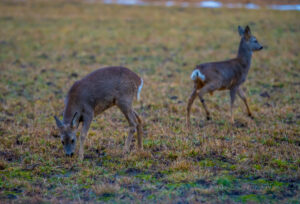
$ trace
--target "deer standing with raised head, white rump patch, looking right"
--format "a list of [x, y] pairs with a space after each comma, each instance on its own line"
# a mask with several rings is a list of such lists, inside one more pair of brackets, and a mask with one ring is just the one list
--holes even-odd
[[190, 128], [190, 111], [192, 104], [198, 95], [206, 112], [207, 120], [210, 119], [210, 114], [203, 99], [204, 94], [213, 93], [216, 90], [230, 90], [230, 112], [231, 122], [233, 119], [233, 104], [236, 93], [246, 105], [248, 115], [252, 117], [249, 109], [246, 96], [240, 85], [246, 80], [253, 51], [263, 49], [256, 38], [251, 34], [249, 26], [243, 29], [238, 27], [241, 36], [240, 46], [237, 57], [227, 61], [211, 62], [197, 65], [192, 72], [191, 79], [194, 81], [194, 89], [188, 100], [187, 105], [187, 127]]

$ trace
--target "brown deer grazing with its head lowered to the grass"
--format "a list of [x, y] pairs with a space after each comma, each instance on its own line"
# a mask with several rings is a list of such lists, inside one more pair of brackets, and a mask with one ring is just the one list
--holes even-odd
[[136, 131], [138, 148], [142, 149], [142, 121], [132, 108], [133, 99], [137, 96], [139, 100], [142, 87], [143, 79], [125, 67], [101, 68], [76, 81], [65, 100], [63, 121], [54, 116], [66, 155], [74, 154], [76, 129], [82, 122], [79, 159], [83, 159], [84, 141], [92, 119], [114, 105], [119, 107], [130, 126], [124, 151], [129, 151]]

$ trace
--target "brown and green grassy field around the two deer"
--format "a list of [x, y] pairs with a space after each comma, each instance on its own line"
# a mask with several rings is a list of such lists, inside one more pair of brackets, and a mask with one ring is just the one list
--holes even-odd
[[[0, 202], [284, 202], [300, 200], [300, 12], [0, 2]], [[237, 26], [255, 53], [229, 121], [229, 94], [192, 108], [196, 64], [236, 55]], [[144, 79], [144, 151], [122, 154], [117, 108], [94, 119], [83, 162], [64, 156], [53, 116], [76, 80], [122, 65]], [[135, 144], [136, 141], [133, 143]], [[78, 149], [78, 148], [77, 148]]]

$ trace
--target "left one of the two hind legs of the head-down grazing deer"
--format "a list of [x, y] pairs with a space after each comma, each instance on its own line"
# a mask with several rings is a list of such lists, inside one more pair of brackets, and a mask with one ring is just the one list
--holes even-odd
[[124, 114], [124, 116], [126, 117], [129, 123], [129, 132], [124, 146], [124, 153], [127, 153], [129, 152], [132, 137], [134, 133], [137, 131], [138, 122], [134, 114], [134, 111], [132, 110], [131, 103], [127, 101], [119, 101], [117, 103], [117, 106], [120, 108], [120, 110], [122, 111], [122, 113]]

